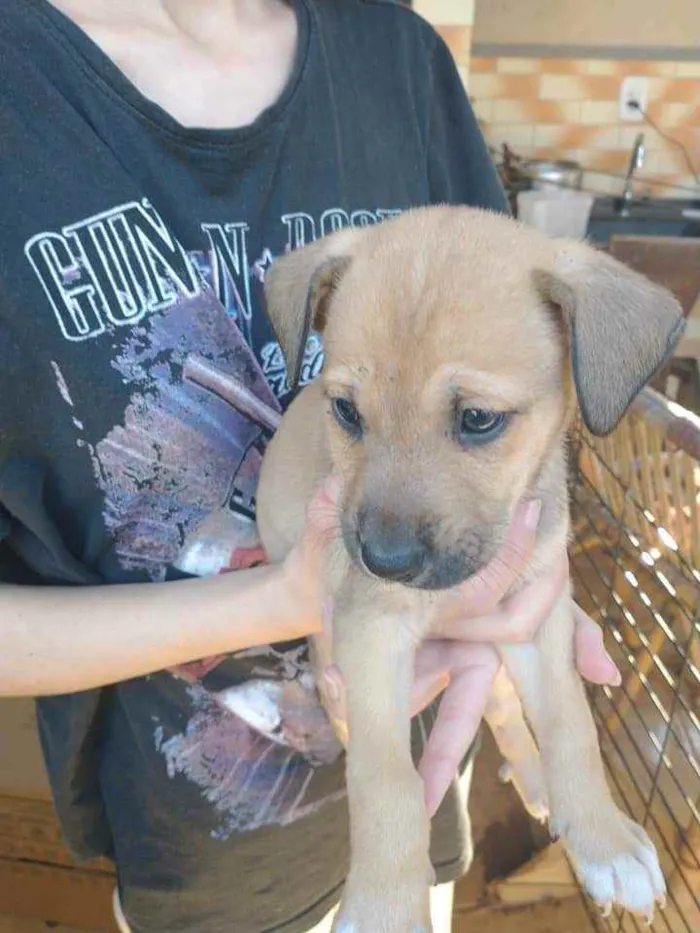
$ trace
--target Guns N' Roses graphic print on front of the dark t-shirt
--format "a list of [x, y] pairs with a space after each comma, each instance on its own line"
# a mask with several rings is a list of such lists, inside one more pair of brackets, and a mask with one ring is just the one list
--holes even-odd
[[[370, 216], [382, 219], [327, 211], [316, 224], [284, 215], [283, 249], [329, 232], [329, 223]], [[169, 568], [203, 576], [265, 560], [255, 491], [286, 370], [276, 342], [262, 342], [259, 361], [251, 344], [274, 254], [264, 247], [250, 261], [244, 223], [205, 223], [202, 231], [207, 248], [188, 254], [144, 202], [34, 237], [26, 248], [66, 340], [107, 339], [116, 348], [112, 366], [130, 400], [121, 422], [89, 447], [119, 561], [154, 581]], [[322, 358], [312, 336], [303, 381]], [[75, 393], [55, 372], [79, 428]], [[293, 822], [342, 796], [321, 789], [319, 768], [342, 749], [305, 645], [261, 646], [171, 673], [187, 692], [189, 719], [182, 732], [158, 726], [154, 742], [168, 773], [184, 775], [218, 812], [216, 838]]]

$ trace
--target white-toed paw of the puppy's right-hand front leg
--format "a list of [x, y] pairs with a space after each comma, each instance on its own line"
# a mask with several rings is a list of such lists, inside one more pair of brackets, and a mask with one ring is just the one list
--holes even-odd
[[[664, 880], [656, 849], [641, 826], [617, 809], [593, 821], [591, 832], [564, 831], [564, 844], [588, 894], [609, 914], [613, 906], [642, 914], [651, 923], [663, 908]], [[554, 828], [554, 827], [553, 827]]]

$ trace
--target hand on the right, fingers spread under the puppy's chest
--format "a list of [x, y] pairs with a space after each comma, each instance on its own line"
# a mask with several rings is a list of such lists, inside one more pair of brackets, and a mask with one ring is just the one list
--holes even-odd
[[[568, 585], [569, 564], [562, 548], [546, 573], [506, 596], [533, 552], [538, 519], [537, 503], [518, 507], [506, 541], [493, 560], [447, 594], [439, 639], [418, 650], [415, 711], [445, 690], [419, 768], [431, 813], [476, 736], [500, 667], [495, 645], [532, 641]], [[600, 628], [578, 606], [574, 612], [579, 673], [592, 683], [619, 684], [619, 671], [605, 651]]]

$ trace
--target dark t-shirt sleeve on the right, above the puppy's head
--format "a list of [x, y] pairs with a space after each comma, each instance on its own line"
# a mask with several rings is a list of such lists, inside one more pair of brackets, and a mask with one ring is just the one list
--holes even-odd
[[428, 180], [432, 202], [510, 213], [452, 54], [439, 36], [432, 52], [431, 82]]

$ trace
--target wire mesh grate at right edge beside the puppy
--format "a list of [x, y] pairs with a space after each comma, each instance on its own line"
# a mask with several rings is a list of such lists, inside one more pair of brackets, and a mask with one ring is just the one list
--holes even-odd
[[[620, 688], [594, 689], [618, 803], [654, 840], [668, 883], [654, 933], [700, 931], [700, 418], [651, 389], [617, 430], [574, 439], [571, 568]], [[591, 915], [601, 931], [642, 918]]]

